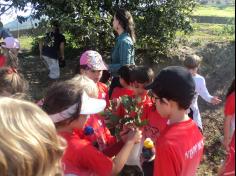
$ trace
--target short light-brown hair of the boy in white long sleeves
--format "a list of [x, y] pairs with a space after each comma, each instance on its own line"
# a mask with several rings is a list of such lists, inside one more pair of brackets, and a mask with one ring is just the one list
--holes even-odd
[[200, 66], [202, 59], [196, 55], [186, 55], [184, 59], [184, 66], [188, 69], [195, 69]]

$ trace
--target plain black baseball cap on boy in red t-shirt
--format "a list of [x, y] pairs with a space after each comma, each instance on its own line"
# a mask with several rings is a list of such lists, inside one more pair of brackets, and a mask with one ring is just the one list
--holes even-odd
[[169, 66], [161, 70], [146, 89], [151, 89], [159, 98], [176, 101], [184, 109], [189, 108], [195, 95], [191, 73], [180, 66]]

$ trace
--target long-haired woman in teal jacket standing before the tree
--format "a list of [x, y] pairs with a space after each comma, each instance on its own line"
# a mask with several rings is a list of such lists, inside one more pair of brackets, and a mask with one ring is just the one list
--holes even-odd
[[111, 55], [110, 71], [114, 74], [123, 65], [134, 65], [134, 21], [129, 11], [118, 9], [113, 18], [113, 29], [118, 34]]

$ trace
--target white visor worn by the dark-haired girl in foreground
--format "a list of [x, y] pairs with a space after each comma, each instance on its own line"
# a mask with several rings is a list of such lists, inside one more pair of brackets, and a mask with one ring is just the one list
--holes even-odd
[[[82, 94], [82, 106], [80, 110], [80, 114], [82, 115], [90, 115], [97, 114], [103, 111], [106, 107], [106, 101], [102, 99], [90, 98], [86, 92]], [[71, 115], [76, 112], [78, 108], [78, 103], [70, 106], [66, 110], [49, 115], [54, 123], [64, 121], [66, 119], [71, 118]]]

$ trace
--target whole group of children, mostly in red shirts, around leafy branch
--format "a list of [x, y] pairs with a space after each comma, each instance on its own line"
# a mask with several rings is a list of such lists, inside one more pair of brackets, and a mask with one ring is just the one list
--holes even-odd
[[[109, 89], [100, 82], [107, 65], [98, 52], [88, 50], [73, 78], [55, 82], [34, 103], [22, 100], [21, 95], [28, 93], [23, 75], [4, 65], [0, 68], [1, 175], [196, 175], [204, 148], [198, 95], [212, 104], [221, 100], [208, 93], [204, 78], [197, 74], [198, 56], [187, 56], [184, 65], [166, 67], [156, 77], [149, 67], [124, 65], [118, 71], [120, 84]], [[221, 175], [234, 171], [229, 167], [235, 161], [232, 85], [224, 140], [230, 158]], [[126, 113], [119, 103], [122, 96], [139, 100], [137, 108], [147, 124], [124, 125], [117, 138], [107, 127], [110, 119], [101, 112], [115, 101], [113, 113], [122, 119]], [[145, 139], [155, 146], [151, 160], [142, 158]], [[140, 145], [138, 167], [129, 162], [136, 145]]]

